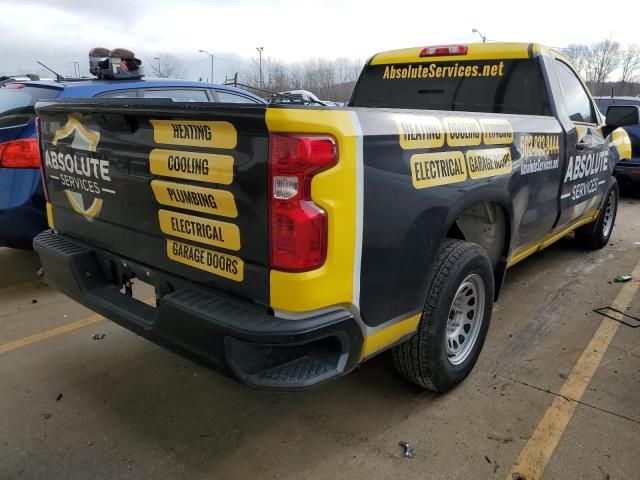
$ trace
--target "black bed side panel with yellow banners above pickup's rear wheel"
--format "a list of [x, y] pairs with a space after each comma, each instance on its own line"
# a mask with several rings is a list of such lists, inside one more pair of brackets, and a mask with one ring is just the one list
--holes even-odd
[[[398, 110], [359, 111], [358, 119], [367, 324], [421, 310], [430, 281], [425, 272], [467, 208], [501, 205], [512, 219], [514, 248], [552, 230], [565, 150], [553, 117]], [[508, 248], [501, 252], [505, 260]]]

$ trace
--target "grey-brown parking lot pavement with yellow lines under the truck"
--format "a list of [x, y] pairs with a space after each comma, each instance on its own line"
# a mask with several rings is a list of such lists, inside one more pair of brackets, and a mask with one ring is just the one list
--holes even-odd
[[566, 239], [508, 272], [454, 391], [407, 384], [383, 354], [273, 393], [102, 319], [40, 282], [33, 252], [0, 249], [0, 478], [638, 479], [640, 328], [593, 310], [640, 317], [639, 264], [640, 200], [625, 198], [604, 249]]

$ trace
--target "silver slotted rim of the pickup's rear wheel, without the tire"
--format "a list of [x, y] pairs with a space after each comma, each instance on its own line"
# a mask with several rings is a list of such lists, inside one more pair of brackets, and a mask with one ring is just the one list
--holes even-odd
[[484, 281], [475, 273], [464, 279], [453, 297], [445, 338], [447, 358], [452, 365], [460, 365], [473, 352], [484, 320], [484, 297]]

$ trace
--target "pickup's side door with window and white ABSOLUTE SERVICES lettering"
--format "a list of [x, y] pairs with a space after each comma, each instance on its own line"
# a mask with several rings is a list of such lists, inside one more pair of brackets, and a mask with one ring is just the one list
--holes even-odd
[[554, 64], [564, 97], [559, 116], [566, 131], [559, 229], [596, 213], [612, 172], [602, 116], [569, 64], [561, 58]]

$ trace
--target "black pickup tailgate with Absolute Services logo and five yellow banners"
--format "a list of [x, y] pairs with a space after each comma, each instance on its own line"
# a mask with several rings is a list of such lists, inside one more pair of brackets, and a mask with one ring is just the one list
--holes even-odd
[[261, 105], [38, 105], [55, 230], [269, 303]]

